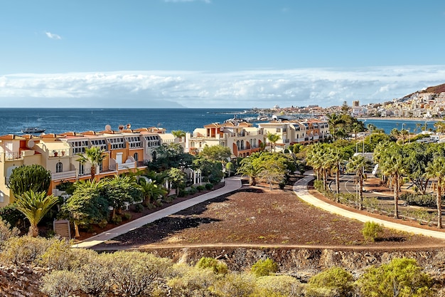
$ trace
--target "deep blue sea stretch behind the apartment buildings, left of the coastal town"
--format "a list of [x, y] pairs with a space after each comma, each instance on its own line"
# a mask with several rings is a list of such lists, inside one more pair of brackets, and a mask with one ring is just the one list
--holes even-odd
[[229, 118], [253, 117], [242, 109], [218, 108], [0, 108], [0, 135], [21, 135], [26, 127], [41, 127], [45, 133], [68, 131], [102, 131], [105, 125], [118, 130], [119, 125], [132, 128], [163, 127], [167, 132], [184, 130], [193, 132], [210, 123], [223, 123]]

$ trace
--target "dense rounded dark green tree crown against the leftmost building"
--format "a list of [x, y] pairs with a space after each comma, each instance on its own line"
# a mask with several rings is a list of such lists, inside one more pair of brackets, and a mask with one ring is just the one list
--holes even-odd
[[15, 196], [28, 191], [48, 192], [51, 184], [51, 172], [41, 165], [21, 165], [12, 170], [8, 187]]

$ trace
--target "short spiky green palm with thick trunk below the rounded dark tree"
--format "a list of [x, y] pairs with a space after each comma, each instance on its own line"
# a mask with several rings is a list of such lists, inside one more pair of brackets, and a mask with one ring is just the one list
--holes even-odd
[[45, 192], [34, 192], [30, 190], [16, 197], [17, 209], [21, 211], [31, 223], [28, 234], [38, 236], [38, 222], [45, 214], [57, 204], [58, 197], [53, 195], [47, 196]]

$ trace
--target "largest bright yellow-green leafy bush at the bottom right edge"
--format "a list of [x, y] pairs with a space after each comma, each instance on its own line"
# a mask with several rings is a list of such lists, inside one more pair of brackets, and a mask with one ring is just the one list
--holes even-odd
[[436, 296], [433, 280], [414, 259], [392, 259], [389, 264], [371, 266], [357, 284], [363, 297]]

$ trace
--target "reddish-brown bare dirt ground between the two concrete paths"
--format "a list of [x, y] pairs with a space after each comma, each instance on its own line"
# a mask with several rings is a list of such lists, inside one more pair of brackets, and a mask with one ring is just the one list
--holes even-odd
[[[290, 184], [293, 184], [291, 182]], [[417, 224], [406, 222], [407, 224]], [[417, 224], [419, 226], [419, 224]], [[376, 242], [366, 242], [363, 223], [323, 212], [292, 192], [247, 187], [195, 205], [130, 231], [97, 249], [178, 246], [324, 246], [358, 249], [407, 249], [445, 246], [445, 242], [385, 229]]]

